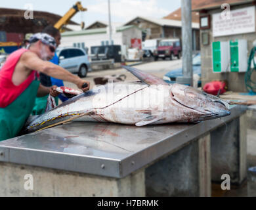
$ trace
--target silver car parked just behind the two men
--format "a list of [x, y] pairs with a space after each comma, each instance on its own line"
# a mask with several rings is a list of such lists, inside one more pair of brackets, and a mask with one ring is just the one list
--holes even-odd
[[77, 73], [79, 77], [86, 77], [87, 72], [91, 72], [91, 64], [87, 53], [77, 47], [59, 47], [56, 49], [59, 58], [59, 66], [72, 73]]

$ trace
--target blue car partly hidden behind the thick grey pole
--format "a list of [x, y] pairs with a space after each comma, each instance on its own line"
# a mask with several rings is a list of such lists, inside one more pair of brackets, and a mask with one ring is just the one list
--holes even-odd
[[[193, 69], [193, 79], [195, 81], [198, 81], [197, 87], [202, 86], [201, 81], [201, 54], [198, 53], [194, 56], [192, 59], [192, 69]], [[163, 76], [163, 80], [167, 83], [176, 83], [177, 77], [182, 77], [182, 68], [179, 68], [177, 70], [171, 70], [167, 74]]]

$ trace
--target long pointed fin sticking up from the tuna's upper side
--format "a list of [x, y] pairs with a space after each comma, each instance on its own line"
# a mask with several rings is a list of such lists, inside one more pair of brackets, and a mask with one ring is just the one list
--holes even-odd
[[163, 81], [163, 79], [160, 79], [159, 77], [156, 77], [152, 74], [148, 74], [145, 72], [142, 72], [141, 70], [138, 70], [137, 68], [133, 68], [131, 66], [121, 66], [125, 68], [125, 70], [131, 72], [131, 74], [135, 75], [140, 81], [148, 84], [148, 85], [168, 85]]

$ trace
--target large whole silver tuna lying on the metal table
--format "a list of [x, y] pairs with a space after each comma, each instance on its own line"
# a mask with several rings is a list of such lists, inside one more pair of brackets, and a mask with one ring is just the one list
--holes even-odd
[[[213, 95], [123, 66], [140, 81], [108, 83], [81, 93], [37, 117], [30, 118], [24, 133], [66, 121], [98, 121], [127, 125], [198, 122], [228, 116], [228, 104]], [[86, 127], [85, 127], [86, 129]]]

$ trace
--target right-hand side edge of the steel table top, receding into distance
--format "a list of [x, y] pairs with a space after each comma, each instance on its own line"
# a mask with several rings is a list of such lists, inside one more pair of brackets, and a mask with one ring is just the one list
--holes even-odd
[[[247, 108], [245, 108], [244, 106], [236, 105], [232, 107], [232, 112], [229, 116], [211, 119], [209, 121], [202, 121], [190, 127], [190, 129], [186, 131], [180, 131], [172, 137], [163, 138], [162, 140], [150, 145], [148, 148], [140, 150], [135, 154], [131, 154], [130, 156], [127, 156], [127, 158], [121, 159], [121, 177], [126, 177], [130, 173], [133, 173], [134, 171], [137, 171], [138, 169], [156, 161], [156, 159], [160, 159], [163, 156], [176, 152], [177, 150], [189, 144], [192, 140], [196, 140], [205, 135], [206, 133], [210, 133], [214, 129], [217, 129], [224, 123], [228, 123], [232, 119], [242, 116], [242, 114], [244, 114], [246, 110]], [[213, 125], [210, 125], [212, 123]], [[197, 132], [195, 134], [194, 129], [198, 129], [198, 131], [200, 132]], [[173, 150], [170, 151], [169, 148], [171, 147], [171, 145], [169, 144], [173, 144], [173, 139], [175, 139], [174, 141], [177, 144], [176, 146], [173, 146]], [[158, 148], [158, 151], [161, 151], [161, 154], [154, 155], [154, 150], [156, 150], [156, 148]], [[151, 154], [152, 156], [147, 156], [147, 154]], [[145, 156], [147, 156], [147, 158], [145, 158]], [[145, 159], [146, 161], [144, 163], [141, 163], [140, 161], [135, 161], [136, 159]]]

